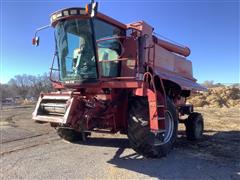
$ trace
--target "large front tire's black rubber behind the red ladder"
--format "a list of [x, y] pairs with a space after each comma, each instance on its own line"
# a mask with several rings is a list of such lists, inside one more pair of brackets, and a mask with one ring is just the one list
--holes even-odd
[[161, 158], [166, 156], [177, 138], [178, 118], [174, 104], [168, 99], [167, 109], [173, 119], [173, 133], [165, 144], [156, 144], [158, 135], [149, 128], [149, 109], [146, 97], [132, 97], [129, 101], [128, 139], [132, 148], [144, 157]]

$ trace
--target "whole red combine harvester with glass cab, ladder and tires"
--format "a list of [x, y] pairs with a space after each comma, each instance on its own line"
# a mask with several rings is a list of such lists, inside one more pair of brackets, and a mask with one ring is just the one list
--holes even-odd
[[40, 95], [36, 122], [49, 122], [69, 141], [91, 132], [127, 134], [145, 157], [171, 150], [179, 122], [188, 139], [202, 136], [203, 118], [186, 104], [192, 91], [205, 90], [193, 78], [189, 48], [159, 39], [144, 21], [123, 24], [97, 12], [94, 2], [53, 13], [49, 26], [55, 29], [50, 79], [56, 92]]

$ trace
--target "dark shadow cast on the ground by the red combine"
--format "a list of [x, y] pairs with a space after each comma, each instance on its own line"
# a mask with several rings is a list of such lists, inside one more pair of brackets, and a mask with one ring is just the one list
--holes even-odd
[[[214, 134], [208, 135], [210, 133]], [[126, 138], [94, 137], [89, 138], [83, 144], [117, 147], [119, 149], [108, 163], [117, 168], [127, 169], [150, 177], [167, 179], [240, 178], [239, 131], [206, 131], [203, 139], [198, 142], [188, 141], [184, 132], [180, 132], [173, 150], [167, 157], [161, 159], [145, 159], [136, 153], [132, 153], [132, 151], [131, 154], [126, 153], [126, 149], [131, 148]]]

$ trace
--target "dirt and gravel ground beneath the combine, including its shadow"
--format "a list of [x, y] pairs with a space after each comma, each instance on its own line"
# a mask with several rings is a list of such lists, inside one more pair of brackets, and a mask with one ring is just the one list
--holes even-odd
[[161, 159], [145, 159], [126, 136], [92, 134], [61, 140], [31, 120], [33, 106], [1, 109], [1, 179], [240, 179], [240, 109], [196, 108], [205, 119], [202, 140], [190, 142], [179, 125], [177, 142]]

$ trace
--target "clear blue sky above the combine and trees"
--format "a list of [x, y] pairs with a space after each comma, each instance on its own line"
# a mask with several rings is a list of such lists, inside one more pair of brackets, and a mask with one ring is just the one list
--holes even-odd
[[[52, 12], [85, 6], [89, 1], [1, 0], [1, 83], [17, 74], [49, 71], [54, 51], [53, 30], [40, 33], [39, 47], [31, 45], [35, 29], [49, 24]], [[145, 20], [155, 32], [191, 49], [194, 77], [199, 82], [236, 83], [240, 78], [239, 1], [107, 1], [99, 11], [123, 23]]]

